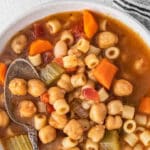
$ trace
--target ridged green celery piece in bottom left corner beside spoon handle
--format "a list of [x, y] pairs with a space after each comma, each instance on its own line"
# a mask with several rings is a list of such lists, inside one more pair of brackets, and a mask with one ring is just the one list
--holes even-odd
[[14, 136], [2, 140], [7, 150], [32, 150], [32, 145], [27, 135]]

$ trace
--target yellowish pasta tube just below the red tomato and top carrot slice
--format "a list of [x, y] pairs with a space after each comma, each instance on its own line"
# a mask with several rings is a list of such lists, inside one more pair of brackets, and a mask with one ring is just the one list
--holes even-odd
[[82, 53], [87, 53], [90, 48], [90, 42], [84, 38], [79, 39], [76, 48]]

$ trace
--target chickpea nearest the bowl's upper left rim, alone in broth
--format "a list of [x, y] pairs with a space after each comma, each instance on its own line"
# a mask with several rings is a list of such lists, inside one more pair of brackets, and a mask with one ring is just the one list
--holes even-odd
[[16, 54], [21, 54], [27, 45], [27, 37], [24, 34], [16, 36], [11, 43], [11, 48]]

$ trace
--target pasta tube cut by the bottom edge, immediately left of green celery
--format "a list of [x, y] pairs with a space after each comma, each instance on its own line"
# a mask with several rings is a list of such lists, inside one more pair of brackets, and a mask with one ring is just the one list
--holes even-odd
[[98, 143], [93, 142], [90, 139], [87, 139], [85, 144], [85, 150], [98, 150]]

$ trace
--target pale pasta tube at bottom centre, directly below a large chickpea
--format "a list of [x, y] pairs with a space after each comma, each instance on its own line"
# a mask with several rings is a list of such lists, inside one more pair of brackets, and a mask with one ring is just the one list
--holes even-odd
[[71, 139], [70, 137], [65, 137], [62, 140], [62, 146], [65, 149], [73, 148], [78, 144], [78, 141]]

